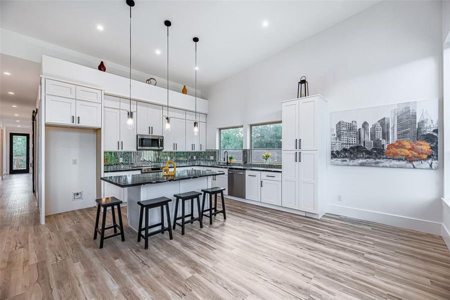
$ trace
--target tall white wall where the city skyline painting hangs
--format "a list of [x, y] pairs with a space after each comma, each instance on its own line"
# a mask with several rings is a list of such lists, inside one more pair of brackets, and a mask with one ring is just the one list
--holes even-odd
[[[281, 119], [280, 101], [296, 96], [302, 75], [329, 111], [441, 99], [441, 3], [380, 2], [211, 86], [207, 147], [217, 127]], [[442, 167], [328, 163], [327, 173], [328, 211], [440, 233]]]

